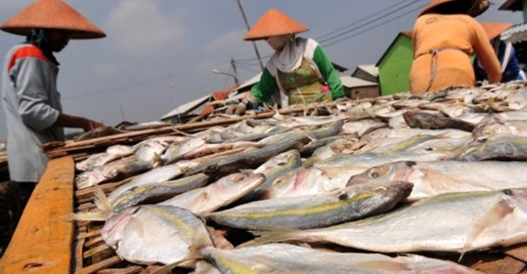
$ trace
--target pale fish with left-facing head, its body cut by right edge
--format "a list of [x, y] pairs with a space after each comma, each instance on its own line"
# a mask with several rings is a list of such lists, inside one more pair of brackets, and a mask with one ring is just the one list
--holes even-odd
[[522, 162], [401, 161], [352, 176], [347, 186], [408, 181], [414, 184], [408, 200], [415, 201], [443, 193], [526, 188], [524, 174], [527, 164]]

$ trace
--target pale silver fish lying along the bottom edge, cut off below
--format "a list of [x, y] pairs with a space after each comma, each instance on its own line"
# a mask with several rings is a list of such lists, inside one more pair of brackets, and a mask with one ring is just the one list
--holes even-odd
[[200, 252], [224, 274], [477, 274], [457, 263], [419, 255], [340, 253], [298, 247], [292, 244], [262, 244], [256, 247], [216, 249]]

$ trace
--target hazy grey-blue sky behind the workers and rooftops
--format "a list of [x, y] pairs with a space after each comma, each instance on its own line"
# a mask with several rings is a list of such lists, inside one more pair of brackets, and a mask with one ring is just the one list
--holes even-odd
[[[398, 32], [412, 30], [429, 0], [240, 0], [249, 25], [275, 8], [310, 30], [332, 62], [349, 68], [375, 64]], [[110, 126], [126, 120], [150, 122], [177, 105], [234, 84], [234, 60], [240, 82], [260, 72], [247, 27], [236, 0], [65, 0], [108, 37], [72, 40], [56, 54], [63, 111]], [[521, 13], [498, 11], [505, 0], [477, 19], [522, 20]], [[32, 3], [1, 0], [0, 22]], [[0, 32], [0, 58], [25, 37]], [[271, 48], [256, 46], [266, 63]], [[7, 138], [0, 104], [0, 139]]]

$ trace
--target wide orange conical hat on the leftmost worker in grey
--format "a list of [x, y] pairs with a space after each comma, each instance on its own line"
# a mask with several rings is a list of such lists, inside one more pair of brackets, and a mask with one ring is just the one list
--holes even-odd
[[26, 36], [35, 28], [71, 30], [72, 39], [106, 36], [96, 25], [61, 0], [38, 0], [0, 26], [5, 32]]

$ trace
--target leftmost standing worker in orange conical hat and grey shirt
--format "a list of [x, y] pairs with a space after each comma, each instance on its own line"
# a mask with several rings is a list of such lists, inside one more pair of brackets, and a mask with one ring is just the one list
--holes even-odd
[[1, 72], [9, 174], [27, 201], [48, 162], [42, 143], [63, 141], [64, 127], [89, 131], [103, 126], [63, 112], [54, 53], [70, 39], [102, 38], [105, 33], [61, 0], [35, 1], [0, 29], [27, 37], [7, 53]]

